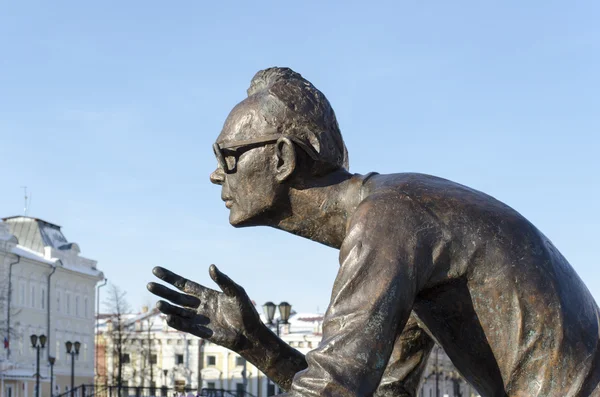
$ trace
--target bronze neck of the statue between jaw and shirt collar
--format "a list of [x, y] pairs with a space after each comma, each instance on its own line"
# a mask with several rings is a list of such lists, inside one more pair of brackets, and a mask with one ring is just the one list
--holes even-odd
[[291, 187], [290, 211], [274, 227], [340, 248], [348, 220], [361, 200], [362, 178], [336, 171], [308, 186]]

